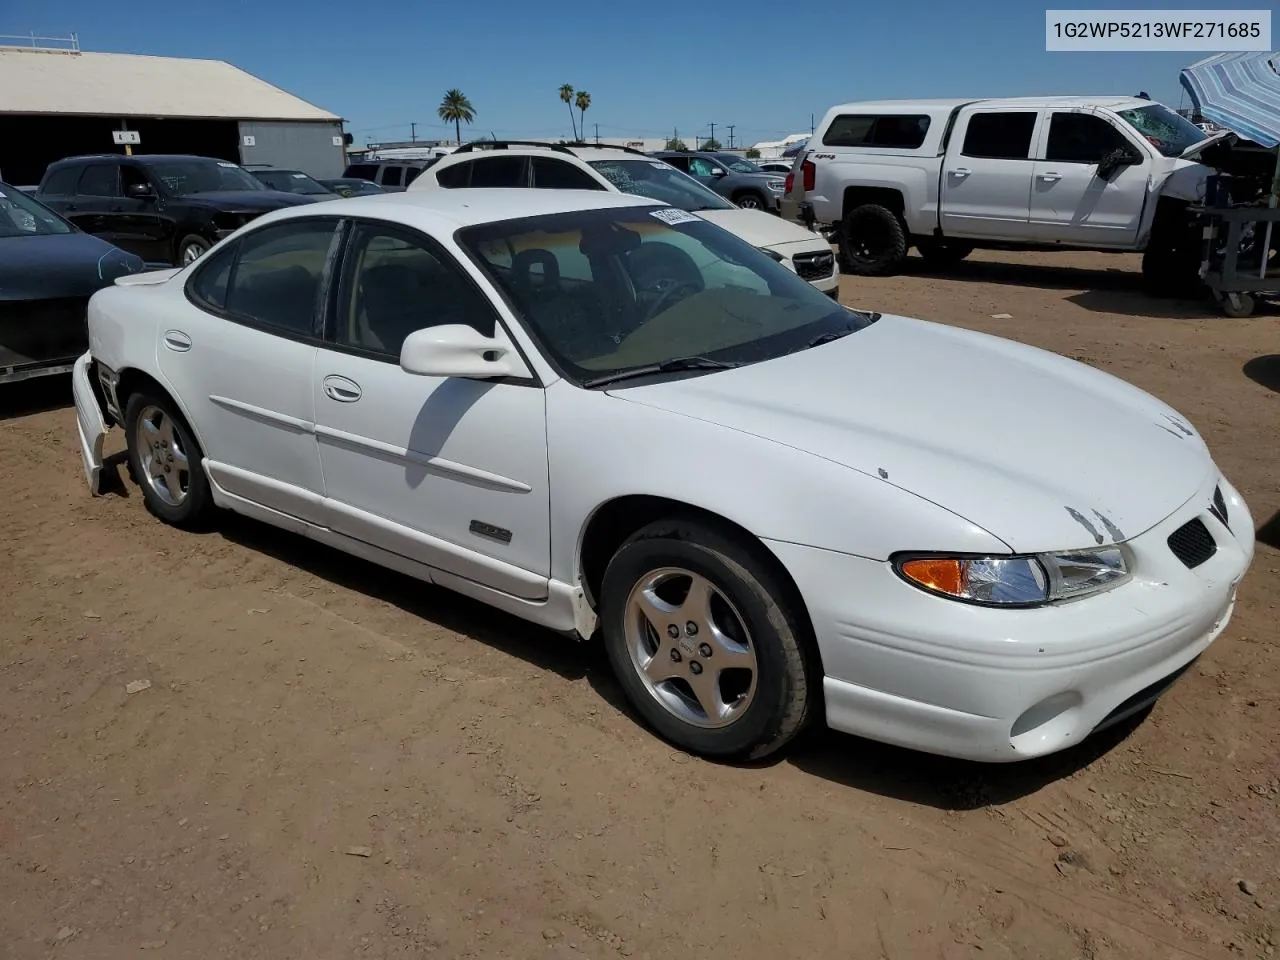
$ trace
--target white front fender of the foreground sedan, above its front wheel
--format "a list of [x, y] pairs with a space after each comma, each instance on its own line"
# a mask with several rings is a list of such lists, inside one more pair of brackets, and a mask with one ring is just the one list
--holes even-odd
[[552, 576], [577, 579], [582, 531], [605, 503], [649, 495], [714, 513], [755, 536], [886, 559], [922, 543], [1009, 547], [963, 517], [822, 457], [694, 417], [582, 390], [547, 390]]

